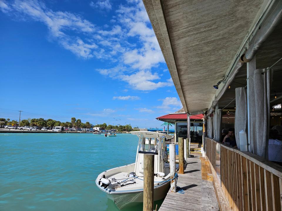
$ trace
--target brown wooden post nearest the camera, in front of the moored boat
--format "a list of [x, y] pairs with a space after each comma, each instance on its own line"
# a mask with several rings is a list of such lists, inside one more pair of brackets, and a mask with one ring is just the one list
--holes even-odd
[[144, 154], [143, 211], [154, 209], [154, 154]]

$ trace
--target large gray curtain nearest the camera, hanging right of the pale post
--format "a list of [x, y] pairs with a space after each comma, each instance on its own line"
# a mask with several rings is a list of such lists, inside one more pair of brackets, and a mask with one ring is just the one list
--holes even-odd
[[270, 88], [273, 70], [256, 69], [249, 77], [250, 144], [254, 154], [268, 159]]

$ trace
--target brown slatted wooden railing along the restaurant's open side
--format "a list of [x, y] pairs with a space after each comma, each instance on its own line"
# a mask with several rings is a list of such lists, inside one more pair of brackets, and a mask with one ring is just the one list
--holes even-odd
[[[221, 186], [232, 210], [281, 211], [281, 166], [250, 152], [241, 152], [209, 138], [205, 140], [214, 180]], [[220, 145], [218, 158], [216, 145]], [[220, 177], [216, 176], [216, 159], [220, 162]]]

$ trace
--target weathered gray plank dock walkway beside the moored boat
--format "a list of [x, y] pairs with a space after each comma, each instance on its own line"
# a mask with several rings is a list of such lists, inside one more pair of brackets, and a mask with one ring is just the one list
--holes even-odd
[[177, 181], [177, 186], [184, 190], [184, 194], [171, 193], [169, 190], [159, 211], [219, 211], [213, 183], [207, 181], [205, 176], [208, 173], [205, 165], [202, 159], [202, 172], [200, 157], [188, 158], [184, 174], [178, 174]]

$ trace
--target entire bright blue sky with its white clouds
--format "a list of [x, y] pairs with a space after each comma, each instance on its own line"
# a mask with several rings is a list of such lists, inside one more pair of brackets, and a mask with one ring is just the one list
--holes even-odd
[[142, 1], [0, 0], [0, 28], [0, 118], [159, 127], [182, 107]]

